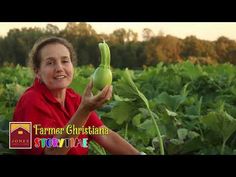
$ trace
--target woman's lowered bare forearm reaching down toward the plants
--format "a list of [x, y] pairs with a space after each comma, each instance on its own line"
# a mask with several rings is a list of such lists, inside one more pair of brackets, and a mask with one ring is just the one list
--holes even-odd
[[[102, 125], [101, 128], [107, 128]], [[109, 129], [107, 135], [94, 135], [94, 140], [111, 154], [140, 155], [140, 152], [123, 139], [119, 134]]]

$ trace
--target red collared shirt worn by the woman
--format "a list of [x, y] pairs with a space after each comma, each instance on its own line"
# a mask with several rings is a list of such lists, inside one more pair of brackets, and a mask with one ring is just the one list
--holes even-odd
[[[18, 101], [13, 121], [15, 122], [32, 122], [41, 124], [42, 128], [63, 128], [76, 112], [81, 102], [81, 96], [76, 94], [71, 88], [66, 89], [65, 107], [63, 107], [52, 95], [45, 84], [35, 79], [33, 86], [28, 88]], [[92, 112], [84, 127], [100, 127], [103, 122], [99, 119], [95, 112]], [[42, 154], [43, 148], [34, 147], [34, 138], [53, 138], [53, 135], [35, 135], [32, 127], [32, 149], [18, 150], [23, 154]], [[92, 136], [80, 134], [78, 139], [88, 138]], [[73, 147], [68, 154], [87, 155], [88, 148], [81, 146]]]

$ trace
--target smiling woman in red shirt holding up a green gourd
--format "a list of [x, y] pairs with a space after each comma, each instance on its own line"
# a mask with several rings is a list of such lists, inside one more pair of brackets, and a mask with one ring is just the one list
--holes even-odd
[[[73, 79], [73, 64], [76, 63], [74, 49], [68, 41], [59, 37], [38, 40], [32, 48], [30, 61], [36, 77], [34, 84], [17, 103], [13, 121], [32, 122], [33, 144], [32, 149], [18, 150], [19, 153], [86, 155], [88, 146], [84, 140], [95, 140], [111, 154], [139, 154], [137, 149], [107, 128], [94, 112], [111, 99], [111, 85], [97, 95], [92, 94], [92, 81], [82, 96], [68, 88]], [[74, 130], [74, 134], [68, 133], [68, 127], [72, 126], [76, 130], [100, 128], [107, 130], [107, 133], [88, 134], [86, 131], [86, 134], [81, 131], [78, 134]], [[49, 139], [51, 141], [47, 141]], [[52, 139], [56, 139], [56, 144]], [[70, 141], [76, 140], [77, 147], [68, 145], [68, 141], [64, 146], [66, 143], [63, 139], [68, 139], [69, 144], [76, 144]], [[58, 144], [60, 147], [57, 147]]]

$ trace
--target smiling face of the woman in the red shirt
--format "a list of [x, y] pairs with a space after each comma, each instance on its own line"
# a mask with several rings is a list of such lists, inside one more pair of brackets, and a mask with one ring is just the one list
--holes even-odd
[[39, 55], [41, 64], [37, 76], [50, 90], [67, 88], [74, 74], [69, 50], [60, 43], [47, 44]]

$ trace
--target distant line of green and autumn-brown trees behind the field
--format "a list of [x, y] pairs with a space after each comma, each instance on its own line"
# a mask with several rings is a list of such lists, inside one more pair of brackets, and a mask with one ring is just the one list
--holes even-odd
[[115, 68], [141, 68], [158, 62], [178, 63], [189, 60], [193, 63], [236, 64], [236, 41], [221, 36], [216, 41], [200, 40], [196, 36], [184, 39], [159, 32], [155, 35], [144, 28], [143, 41], [133, 30], [119, 28], [111, 34], [98, 34], [91, 25], [81, 22], [67, 23], [60, 30], [48, 24], [45, 28], [11, 29], [6, 37], [0, 37], [0, 65], [27, 65], [28, 53], [34, 42], [42, 36], [60, 36], [72, 43], [78, 57], [78, 66], [97, 66], [100, 61], [98, 43], [105, 40], [111, 50], [111, 65]]

